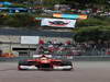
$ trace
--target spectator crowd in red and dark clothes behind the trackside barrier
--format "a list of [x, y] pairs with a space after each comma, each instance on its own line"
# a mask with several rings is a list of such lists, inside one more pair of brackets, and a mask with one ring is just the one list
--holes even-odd
[[41, 49], [44, 52], [53, 55], [70, 55], [70, 56], [109, 56], [109, 44], [88, 44], [88, 43], [72, 43], [66, 40], [59, 43], [57, 39], [44, 42], [40, 40]]

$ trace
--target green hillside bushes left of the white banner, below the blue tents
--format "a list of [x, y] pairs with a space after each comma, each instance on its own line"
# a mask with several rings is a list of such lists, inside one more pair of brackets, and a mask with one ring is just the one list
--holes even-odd
[[0, 21], [1, 25], [11, 27], [28, 27], [36, 25], [35, 21], [33, 20], [33, 16], [24, 13], [6, 15], [1, 17]]

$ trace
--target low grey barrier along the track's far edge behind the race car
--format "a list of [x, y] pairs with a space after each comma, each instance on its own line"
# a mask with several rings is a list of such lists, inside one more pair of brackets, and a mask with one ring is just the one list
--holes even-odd
[[[0, 57], [0, 61], [20, 61], [25, 59], [32, 59], [32, 57], [14, 57], [14, 58], [2, 58]], [[61, 58], [65, 59], [65, 58]], [[67, 58], [68, 60], [73, 61], [110, 61], [110, 56], [74, 56], [70, 58]]]

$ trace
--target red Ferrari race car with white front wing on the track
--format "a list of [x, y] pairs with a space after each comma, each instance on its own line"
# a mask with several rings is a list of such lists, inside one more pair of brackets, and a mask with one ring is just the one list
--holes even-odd
[[73, 69], [72, 61], [54, 59], [46, 55], [38, 55], [35, 59], [19, 61], [19, 70], [68, 70]]

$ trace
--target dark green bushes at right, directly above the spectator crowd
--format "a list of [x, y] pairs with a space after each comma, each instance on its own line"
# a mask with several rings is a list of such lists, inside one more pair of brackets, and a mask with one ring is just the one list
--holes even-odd
[[110, 26], [91, 26], [77, 28], [74, 38], [76, 42], [94, 40], [97, 43], [99, 39], [102, 42], [110, 40]]

